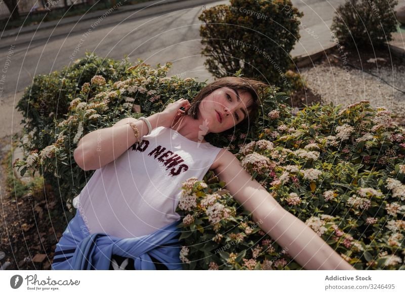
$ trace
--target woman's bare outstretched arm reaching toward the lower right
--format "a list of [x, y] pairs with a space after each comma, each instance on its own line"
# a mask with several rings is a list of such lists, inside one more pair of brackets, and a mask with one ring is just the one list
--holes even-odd
[[233, 198], [252, 212], [253, 220], [305, 269], [355, 270], [300, 219], [286, 211], [229, 151], [214, 170]]

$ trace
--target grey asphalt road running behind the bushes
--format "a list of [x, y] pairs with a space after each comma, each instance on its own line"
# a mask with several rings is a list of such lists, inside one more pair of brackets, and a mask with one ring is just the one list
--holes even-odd
[[[21, 115], [14, 106], [33, 77], [61, 69], [83, 57], [86, 50], [114, 59], [128, 55], [132, 63], [138, 58], [151, 65], [171, 61], [169, 76], [212, 81], [200, 56], [198, 16], [204, 5], [220, 3], [229, 2], [183, 1], [2, 38], [0, 71], [7, 69], [3, 77], [0, 74], [0, 137], [19, 128]], [[293, 56], [331, 44], [329, 26], [341, 3], [344, 0], [293, 0], [304, 12]]]

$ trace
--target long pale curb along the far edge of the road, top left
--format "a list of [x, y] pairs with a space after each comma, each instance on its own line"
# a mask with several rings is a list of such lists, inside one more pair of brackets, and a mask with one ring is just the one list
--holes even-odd
[[[211, 1], [207, 0], [207, 1], [204, 1], [204, 3], [211, 3], [211, 2], [217, 2], [217, 1], [218, 0], [211, 0]], [[163, 2], [161, 0], [156, 0], [156, 1], [148, 1], [148, 2], [134, 4], [134, 5], [123, 5], [123, 6], [118, 7], [115, 11], [111, 12], [111, 14], [119, 14], [119, 13], [124, 13], [124, 12], [132, 11], [132, 10], [140, 10], [142, 8], [149, 8], [149, 7], [153, 8], [156, 6], [168, 5], [168, 4], [177, 3], [177, 2], [186, 2], [186, 0], [166, 0]], [[201, 2], [203, 2], [203, 1], [201, 1]], [[89, 14], [86, 14], [85, 16], [75, 15], [75, 16], [67, 17], [64, 20], [53, 20], [53, 21], [44, 22], [44, 23], [38, 24], [38, 25], [30, 25], [30, 26], [26, 26], [26, 27], [18, 27], [18, 28], [9, 29], [9, 30], [4, 31], [5, 33], [3, 35], [1, 35], [0, 38], [8, 38], [10, 36], [33, 32], [33, 31], [40, 30], [40, 29], [56, 28], [58, 25], [60, 26], [60, 25], [65, 25], [65, 24], [70, 24], [70, 23], [78, 23], [80, 21], [84, 21], [84, 20], [88, 20], [88, 19], [94, 19], [94, 18], [102, 16], [106, 11], [108, 11], [110, 9], [111, 8], [94, 11]]]

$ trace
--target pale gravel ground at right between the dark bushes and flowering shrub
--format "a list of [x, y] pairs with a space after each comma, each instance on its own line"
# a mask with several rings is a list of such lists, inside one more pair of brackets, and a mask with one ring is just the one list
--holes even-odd
[[301, 69], [301, 75], [313, 93], [321, 96], [322, 104], [333, 102], [334, 105], [346, 107], [360, 100], [369, 100], [372, 107], [384, 106], [398, 118], [405, 118], [405, 93], [390, 86], [405, 92], [405, 66], [385, 66], [368, 71], [378, 77], [323, 60], [312, 67]]

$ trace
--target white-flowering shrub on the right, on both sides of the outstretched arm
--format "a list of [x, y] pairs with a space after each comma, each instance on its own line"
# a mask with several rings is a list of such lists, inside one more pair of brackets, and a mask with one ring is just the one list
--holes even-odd
[[[356, 269], [405, 269], [405, 130], [392, 115], [360, 101], [269, 117], [237, 153], [242, 166]], [[224, 185], [213, 175], [183, 183], [185, 268], [300, 269]]]

